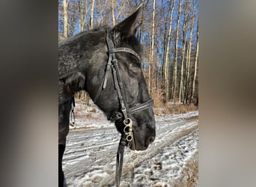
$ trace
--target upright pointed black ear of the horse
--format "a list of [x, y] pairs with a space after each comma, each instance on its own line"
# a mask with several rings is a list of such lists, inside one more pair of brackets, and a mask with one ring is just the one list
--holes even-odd
[[131, 16], [127, 17], [127, 19], [124, 19], [123, 22], [115, 25], [113, 31], [115, 33], [116, 39], [123, 40], [124, 38], [135, 35], [138, 28], [136, 24], [138, 23], [139, 13], [141, 13], [141, 6], [139, 6]]

